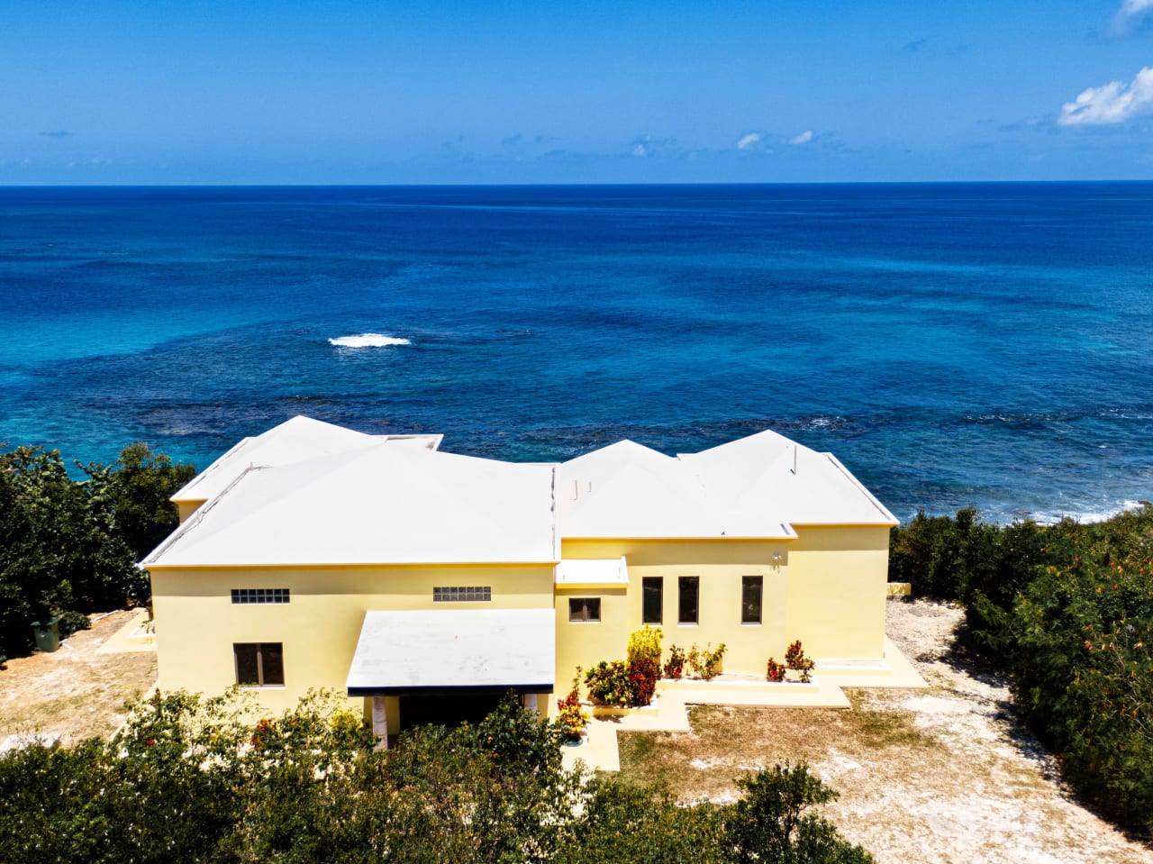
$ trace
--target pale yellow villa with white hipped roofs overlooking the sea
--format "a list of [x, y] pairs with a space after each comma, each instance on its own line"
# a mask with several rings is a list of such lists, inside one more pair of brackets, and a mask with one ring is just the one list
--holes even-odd
[[819, 669], [884, 668], [897, 520], [830, 453], [773, 431], [559, 464], [440, 444], [297, 416], [198, 474], [143, 562], [158, 685], [239, 683], [270, 709], [339, 688], [395, 734], [510, 689], [551, 709], [646, 624], [724, 643], [729, 673], [794, 639]]

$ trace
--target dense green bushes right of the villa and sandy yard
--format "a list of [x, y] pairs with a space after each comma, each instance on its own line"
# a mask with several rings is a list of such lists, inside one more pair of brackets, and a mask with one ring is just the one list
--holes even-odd
[[1048, 526], [922, 512], [892, 529], [889, 578], [959, 601], [963, 646], [1010, 677], [1077, 792], [1153, 835], [1153, 506]]

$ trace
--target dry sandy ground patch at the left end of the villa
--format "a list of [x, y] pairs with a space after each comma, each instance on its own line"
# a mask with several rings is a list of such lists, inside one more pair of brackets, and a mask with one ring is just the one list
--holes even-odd
[[9, 660], [0, 671], [0, 742], [40, 734], [67, 744], [116, 731], [125, 703], [156, 682], [155, 653], [96, 653], [131, 616], [92, 616], [92, 629], [74, 633], [60, 651]]

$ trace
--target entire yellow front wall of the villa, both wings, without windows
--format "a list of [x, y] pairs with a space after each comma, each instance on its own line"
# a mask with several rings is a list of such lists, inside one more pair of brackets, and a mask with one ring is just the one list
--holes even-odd
[[[798, 526], [792, 541], [565, 540], [565, 558], [626, 557], [625, 587], [553, 586], [549, 565], [168, 570], [152, 572], [161, 689], [219, 693], [235, 682], [233, 643], [281, 643], [285, 686], [256, 688], [269, 711], [309, 688], [342, 690], [370, 609], [549, 608], [556, 613], [555, 713], [576, 666], [624, 659], [642, 626], [642, 579], [664, 578], [663, 646], [724, 643], [726, 671], [764, 674], [800, 639], [817, 661], [880, 658], [884, 639], [888, 527]], [[700, 578], [699, 623], [678, 623], [678, 577]], [[763, 578], [761, 624], [741, 624], [741, 577]], [[491, 602], [436, 603], [432, 588], [488, 585]], [[289, 588], [287, 604], [233, 604], [233, 588]], [[571, 598], [601, 598], [601, 621], [568, 621]], [[364, 700], [352, 700], [356, 709]], [[390, 727], [395, 726], [390, 700]], [[395, 731], [395, 728], [392, 729]]]

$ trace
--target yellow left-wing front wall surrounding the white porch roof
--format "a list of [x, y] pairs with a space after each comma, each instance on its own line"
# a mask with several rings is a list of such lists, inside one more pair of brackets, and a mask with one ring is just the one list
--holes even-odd
[[[552, 581], [551, 565], [157, 569], [157, 684], [220, 693], [236, 682], [233, 643], [281, 643], [285, 685], [251, 689], [264, 707], [279, 712], [295, 706], [309, 688], [344, 692], [370, 609], [547, 609], [553, 602]], [[490, 586], [492, 600], [434, 604], [435, 586], [455, 585]], [[288, 588], [291, 599], [234, 604], [233, 588]], [[363, 703], [352, 700], [356, 711]]]

